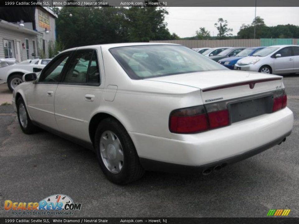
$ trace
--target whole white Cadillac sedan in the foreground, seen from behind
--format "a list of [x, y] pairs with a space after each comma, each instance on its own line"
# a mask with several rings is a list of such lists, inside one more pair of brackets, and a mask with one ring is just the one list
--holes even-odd
[[207, 175], [284, 142], [293, 127], [282, 77], [231, 71], [177, 44], [65, 50], [13, 92], [21, 129], [95, 150], [116, 184], [144, 170]]

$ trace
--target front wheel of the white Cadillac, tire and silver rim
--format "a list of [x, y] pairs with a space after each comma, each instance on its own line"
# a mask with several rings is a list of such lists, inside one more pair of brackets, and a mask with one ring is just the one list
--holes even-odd
[[38, 127], [32, 124], [26, 109], [26, 105], [22, 98], [17, 100], [17, 115], [20, 127], [25, 134], [33, 134], [39, 130]]

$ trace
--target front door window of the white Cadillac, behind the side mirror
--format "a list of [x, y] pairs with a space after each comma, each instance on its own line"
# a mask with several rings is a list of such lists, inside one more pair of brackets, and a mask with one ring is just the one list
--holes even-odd
[[43, 70], [40, 74], [39, 82], [59, 82], [61, 78], [61, 72], [64, 68], [71, 53], [63, 54], [57, 58], [49, 67]]

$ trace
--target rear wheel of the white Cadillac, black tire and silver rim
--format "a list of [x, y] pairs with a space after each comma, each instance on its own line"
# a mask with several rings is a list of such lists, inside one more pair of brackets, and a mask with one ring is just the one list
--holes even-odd
[[116, 119], [99, 123], [94, 143], [100, 167], [111, 182], [128, 184], [144, 174], [132, 139]]

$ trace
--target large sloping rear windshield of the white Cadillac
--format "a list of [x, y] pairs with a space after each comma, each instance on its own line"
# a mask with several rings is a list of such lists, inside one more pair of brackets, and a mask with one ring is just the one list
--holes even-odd
[[127, 46], [109, 51], [132, 79], [227, 69], [180, 45]]

